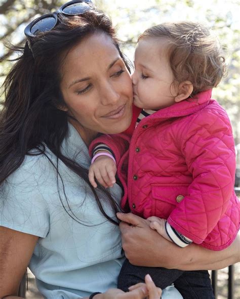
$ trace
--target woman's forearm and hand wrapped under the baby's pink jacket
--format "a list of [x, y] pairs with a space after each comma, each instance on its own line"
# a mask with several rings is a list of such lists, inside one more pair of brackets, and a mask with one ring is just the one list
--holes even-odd
[[240, 261], [240, 235], [226, 249], [212, 251], [190, 244], [180, 248], [149, 227], [147, 220], [132, 213], [118, 213], [123, 248], [137, 266], [179, 270], [217, 270]]

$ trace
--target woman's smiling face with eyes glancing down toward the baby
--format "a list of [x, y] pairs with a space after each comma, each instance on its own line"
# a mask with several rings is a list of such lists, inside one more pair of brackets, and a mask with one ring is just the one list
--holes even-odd
[[[95, 33], [73, 47], [62, 66], [61, 92], [78, 132], [125, 131], [132, 117], [132, 81], [112, 39]], [[84, 132], [83, 132], [84, 131]]]

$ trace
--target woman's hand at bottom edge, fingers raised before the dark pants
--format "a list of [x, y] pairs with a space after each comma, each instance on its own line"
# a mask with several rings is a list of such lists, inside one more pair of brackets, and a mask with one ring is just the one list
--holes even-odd
[[131, 286], [129, 292], [120, 289], [109, 289], [105, 293], [96, 295], [96, 299], [159, 299], [161, 295], [162, 290], [155, 286], [148, 274], [145, 277], [145, 283], [137, 283]]

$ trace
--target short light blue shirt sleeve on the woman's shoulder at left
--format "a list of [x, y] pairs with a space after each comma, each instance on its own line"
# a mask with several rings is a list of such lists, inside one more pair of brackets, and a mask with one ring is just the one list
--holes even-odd
[[48, 205], [43, 194], [45, 175], [39, 156], [30, 158], [1, 186], [0, 226], [46, 237], [50, 227]]

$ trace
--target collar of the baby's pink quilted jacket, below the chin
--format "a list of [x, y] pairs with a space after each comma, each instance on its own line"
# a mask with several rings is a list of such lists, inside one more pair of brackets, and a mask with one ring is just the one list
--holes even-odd
[[170, 118], [180, 117], [197, 112], [206, 107], [211, 100], [212, 90], [207, 90], [196, 94], [193, 98], [181, 101], [170, 107], [160, 109], [147, 118], [158, 119], [158, 118]]

